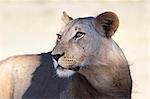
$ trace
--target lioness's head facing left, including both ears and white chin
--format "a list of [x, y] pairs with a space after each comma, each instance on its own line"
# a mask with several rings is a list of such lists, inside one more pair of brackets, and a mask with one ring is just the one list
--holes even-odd
[[63, 20], [66, 25], [57, 34], [52, 51], [58, 76], [70, 76], [92, 63], [96, 64], [96, 60], [107, 64], [105, 50], [109, 49], [113, 42], [111, 37], [118, 28], [117, 15], [104, 12], [97, 17], [73, 19], [64, 12]]

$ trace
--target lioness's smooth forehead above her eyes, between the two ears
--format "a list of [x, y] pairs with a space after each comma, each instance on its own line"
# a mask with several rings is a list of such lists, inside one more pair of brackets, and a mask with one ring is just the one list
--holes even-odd
[[[60, 31], [63, 37], [73, 37], [77, 31], [85, 32], [93, 28], [93, 17], [77, 18], [66, 24]], [[63, 39], [63, 38], [62, 38]]]

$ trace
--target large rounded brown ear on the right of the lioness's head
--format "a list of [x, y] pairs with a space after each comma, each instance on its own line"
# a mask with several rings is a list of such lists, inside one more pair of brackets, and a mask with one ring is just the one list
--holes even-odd
[[94, 19], [95, 28], [99, 33], [110, 38], [119, 26], [118, 16], [113, 12], [104, 12]]

